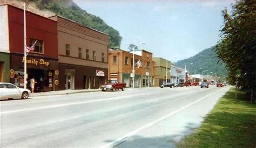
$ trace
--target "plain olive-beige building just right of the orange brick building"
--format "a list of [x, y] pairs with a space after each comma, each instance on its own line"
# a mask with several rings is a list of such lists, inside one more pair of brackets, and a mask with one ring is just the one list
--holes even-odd
[[153, 61], [156, 62], [156, 67], [154, 71], [155, 86], [161, 86], [166, 82], [170, 82], [171, 61], [163, 58], [153, 58]]

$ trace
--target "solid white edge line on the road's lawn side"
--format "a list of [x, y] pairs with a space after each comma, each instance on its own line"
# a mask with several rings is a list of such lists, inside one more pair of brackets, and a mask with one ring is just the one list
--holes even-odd
[[[217, 90], [217, 91], [218, 91], [218, 90]], [[176, 111], [173, 111], [173, 112], [171, 112], [170, 114], [168, 114], [168, 115], [166, 115], [166, 116], [164, 116], [164, 117], [161, 117], [161, 118], [157, 119], [156, 121], [153, 121], [153, 122], [151, 122], [151, 123], [149, 123], [149, 124], [143, 126], [142, 128], [139, 128], [139, 129], [134, 130], [134, 131], [132, 131], [132, 132], [130, 132], [130, 133], [127, 133], [125, 136], [120, 137], [120, 138], [114, 140], [113, 142], [108, 143], [108, 144], [102, 146], [102, 148], [114, 147], [114, 146], [116, 146], [116, 145], [118, 145], [118, 144], [120, 144], [120, 143], [123, 143], [123, 142], [125, 142], [126, 140], [130, 139], [131, 137], [133, 137], [133, 136], [135, 136], [135, 135], [138, 135], [138, 133], [143, 132], [144, 130], [151, 128], [153, 125], [156, 125], [156, 124], [160, 123], [161, 121], [164, 121], [166, 118], [173, 116], [173, 115], [176, 114], [177, 112], [179, 112], [179, 111], [181, 111], [181, 110], [184, 110], [184, 109], [190, 107], [190, 106], [193, 105], [194, 103], [197, 103], [197, 102], [203, 100], [204, 98], [206, 98], [206, 97], [208, 97], [208, 96], [210, 96], [210, 95], [216, 93], [217, 91], [214, 91], [214, 92], [211, 93], [211, 94], [208, 94], [208, 95], [206, 95], [206, 96], [204, 96], [204, 97], [201, 97], [201, 98], [199, 98], [197, 101], [194, 101], [194, 102], [192, 102], [192, 103], [190, 103], [190, 104], [187, 104], [185, 107], [180, 108], [180, 109], [178, 109], [178, 110], [176, 110]]]

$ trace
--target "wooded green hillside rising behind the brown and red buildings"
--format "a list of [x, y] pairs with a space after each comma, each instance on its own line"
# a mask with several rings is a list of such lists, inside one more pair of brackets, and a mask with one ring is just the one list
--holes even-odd
[[48, 9], [59, 16], [109, 34], [109, 47], [120, 47], [122, 37], [117, 30], [107, 25], [101, 18], [79, 8], [72, 0], [31, 0], [31, 2], [35, 2], [41, 10]]

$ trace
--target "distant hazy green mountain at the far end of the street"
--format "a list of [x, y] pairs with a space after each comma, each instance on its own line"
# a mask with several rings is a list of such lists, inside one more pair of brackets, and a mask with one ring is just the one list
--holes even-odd
[[190, 71], [190, 74], [194, 74], [195, 69], [196, 74], [202, 74], [203, 71], [208, 70], [207, 72], [204, 72], [204, 75], [209, 72], [213, 72], [211, 74], [216, 73], [217, 76], [224, 79], [227, 76], [226, 65], [223, 61], [219, 61], [219, 58], [217, 58], [217, 55], [213, 49], [214, 46], [207, 48], [193, 57], [176, 62], [176, 65], [180, 67], [185, 67], [186, 65], [186, 69]]

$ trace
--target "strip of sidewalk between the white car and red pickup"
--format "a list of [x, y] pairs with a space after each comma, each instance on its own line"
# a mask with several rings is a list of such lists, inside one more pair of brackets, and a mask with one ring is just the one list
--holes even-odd
[[77, 93], [89, 93], [89, 92], [95, 92], [95, 91], [102, 91], [102, 90], [101, 89], [68, 89], [68, 90], [31, 93], [31, 96], [68, 95], [68, 94], [77, 94]]

